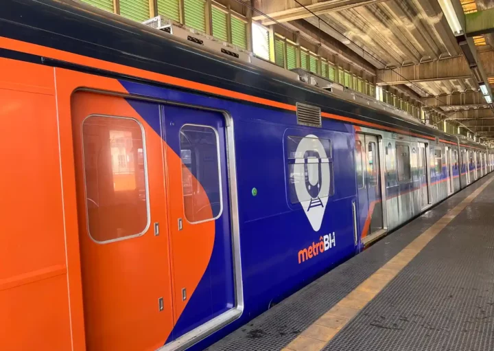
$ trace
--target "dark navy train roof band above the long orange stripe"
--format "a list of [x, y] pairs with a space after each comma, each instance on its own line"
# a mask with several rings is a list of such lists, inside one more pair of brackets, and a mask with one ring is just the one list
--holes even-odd
[[[234, 93], [241, 93], [253, 97], [248, 103], [257, 104], [259, 100], [273, 102], [266, 104], [272, 109], [303, 102], [319, 106], [326, 117], [340, 116], [343, 117], [340, 120], [352, 124], [397, 133], [404, 131], [428, 139], [441, 138], [455, 144], [458, 141], [458, 137], [419, 121], [342, 100], [320, 88], [213, 54], [141, 23], [102, 10], [89, 10], [89, 5], [78, 1], [3, 0], [2, 7], [2, 35], [7, 38], [198, 82], [205, 87], [217, 87], [221, 89], [223, 98], [237, 100], [238, 94]], [[4, 49], [2, 55], [34, 63], [86, 69], [56, 57], [21, 54], [15, 50]], [[115, 76], [115, 73], [101, 69], [99, 74]], [[141, 80], [132, 75], [125, 78]], [[180, 89], [180, 84], [175, 86]], [[198, 90], [218, 95], [214, 90]], [[465, 139], [462, 144], [466, 143], [480, 146]]]

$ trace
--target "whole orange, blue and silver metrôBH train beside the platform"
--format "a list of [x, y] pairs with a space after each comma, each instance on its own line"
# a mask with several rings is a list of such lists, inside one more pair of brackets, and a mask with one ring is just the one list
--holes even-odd
[[1, 350], [207, 348], [494, 167], [76, 2], [0, 27]]

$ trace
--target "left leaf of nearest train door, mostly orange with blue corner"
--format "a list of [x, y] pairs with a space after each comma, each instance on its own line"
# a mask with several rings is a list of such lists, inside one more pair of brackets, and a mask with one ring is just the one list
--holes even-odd
[[154, 350], [173, 328], [159, 106], [77, 92], [71, 114], [86, 350]]

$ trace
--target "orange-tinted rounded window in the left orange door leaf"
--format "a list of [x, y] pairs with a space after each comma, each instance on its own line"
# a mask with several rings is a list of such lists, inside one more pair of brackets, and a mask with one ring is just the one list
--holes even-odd
[[91, 115], [82, 123], [88, 231], [96, 242], [139, 236], [150, 223], [143, 139], [130, 118]]

